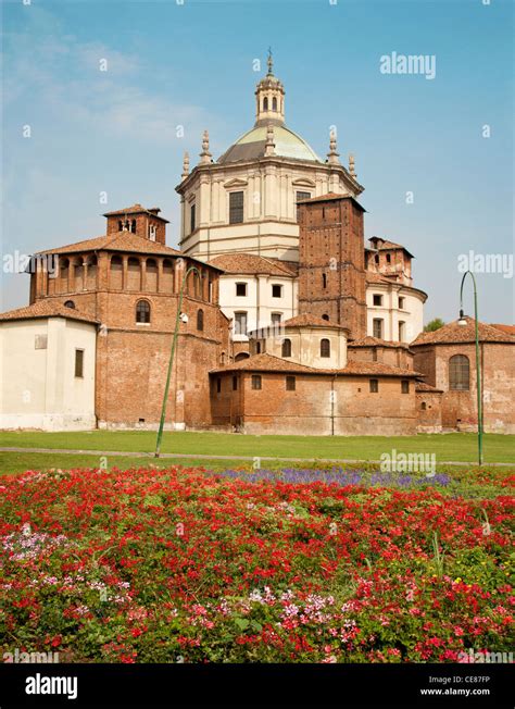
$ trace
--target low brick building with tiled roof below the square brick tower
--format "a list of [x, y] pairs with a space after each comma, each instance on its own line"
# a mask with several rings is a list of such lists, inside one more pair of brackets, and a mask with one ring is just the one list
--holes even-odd
[[250, 434], [407, 435], [416, 433], [412, 370], [348, 362], [322, 370], [255, 354], [211, 373], [217, 427]]

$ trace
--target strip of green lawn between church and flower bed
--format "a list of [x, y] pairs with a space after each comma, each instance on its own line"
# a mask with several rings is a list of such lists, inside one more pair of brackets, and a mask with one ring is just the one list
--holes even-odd
[[[152, 452], [155, 433], [149, 431], [91, 431], [79, 433], [3, 432], [1, 446], [20, 448], [76, 449], [80, 451]], [[379, 460], [381, 453], [435, 453], [437, 463], [477, 459], [475, 434], [434, 434], [418, 436], [250, 436], [222, 433], [165, 433], [162, 452], [236, 458], [272, 457], [282, 460], [316, 459]], [[486, 434], [485, 463], [515, 463], [515, 436]], [[2, 453], [5, 455], [5, 453]], [[18, 456], [18, 455], [17, 455]], [[96, 457], [98, 460], [98, 456]], [[110, 457], [111, 458], [111, 457]], [[58, 453], [53, 456], [58, 460]], [[68, 457], [66, 458], [68, 460]], [[114, 457], [113, 457], [114, 460]], [[137, 464], [130, 459], [131, 464]], [[166, 460], [166, 459], [164, 459]], [[163, 460], [162, 464], [166, 464]], [[172, 461], [166, 461], [171, 463]], [[174, 463], [178, 462], [174, 460]], [[194, 464], [189, 460], [187, 464]], [[209, 461], [198, 461], [208, 464]], [[147, 461], [148, 463], [148, 461]], [[234, 465], [236, 461], [228, 462]], [[64, 463], [59, 463], [64, 464]], [[85, 463], [89, 464], [89, 462]], [[98, 463], [97, 463], [98, 464]], [[109, 461], [111, 465], [111, 460]], [[55, 462], [53, 467], [58, 465]], [[70, 463], [67, 464], [70, 467]]]

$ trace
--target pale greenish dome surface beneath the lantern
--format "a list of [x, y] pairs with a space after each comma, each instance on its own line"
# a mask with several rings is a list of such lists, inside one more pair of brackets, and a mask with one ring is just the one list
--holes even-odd
[[[279, 122], [274, 123], [274, 154], [279, 158], [293, 158], [294, 160], [309, 160], [322, 162], [316, 152], [297, 133], [290, 130]], [[266, 125], [254, 126], [246, 133], [224, 154], [218, 158], [218, 163], [238, 162], [239, 160], [258, 160], [264, 158], [266, 147]]]

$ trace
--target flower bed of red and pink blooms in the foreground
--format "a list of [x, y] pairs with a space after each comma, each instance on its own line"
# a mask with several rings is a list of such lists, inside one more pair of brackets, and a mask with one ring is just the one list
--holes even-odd
[[2, 651], [419, 662], [513, 649], [513, 478], [480, 473], [481, 499], [442, 476], [395, 485], [293, 474], [0, 478]]

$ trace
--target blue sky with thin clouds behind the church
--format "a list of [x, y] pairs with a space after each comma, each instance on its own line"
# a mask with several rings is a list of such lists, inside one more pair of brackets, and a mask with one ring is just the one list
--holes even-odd
[[[161, 207], [175, 246], [183, 152], [194, 163], [208, 128], [217, 158], [252, 126], [253, 62], [265, 66], [268, 46], [287, 124], [321, 157], [337, 126], [365, 186], [366, 236], [416, 256], [426, 321], [456, 316], [459, 254], [513, 252], [510, 0], [16, 0], [2, 11], [4, 253], [99, 236], [103, 212], [136, 201]], [[435, 55], [435, 79], [381, 74], [393, 51]], [[513, 277], [477, 279], [480, 319], [513, 322]], [[1, 309], [27, 301], [28, 277], [3, 274]]]

